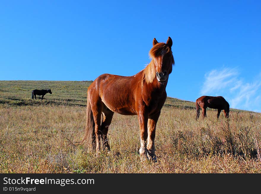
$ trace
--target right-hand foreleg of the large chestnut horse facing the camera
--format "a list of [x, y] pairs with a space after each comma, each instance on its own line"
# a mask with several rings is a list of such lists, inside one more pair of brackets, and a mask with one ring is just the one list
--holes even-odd
[[155, 134], [156, 134], [156, 125], [158, 118], [160, 116], [160, 112], [156, 113], [155, 115], [149, 116], [148, 119], [148, 140], [147, 140], [147, 156], [149, 160], [152, 162], [157, 162], [157, 156], [155, 154]]

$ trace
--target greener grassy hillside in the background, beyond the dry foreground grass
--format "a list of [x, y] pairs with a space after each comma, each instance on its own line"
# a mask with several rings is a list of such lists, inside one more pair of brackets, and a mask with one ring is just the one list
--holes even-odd
[[[0, 81], [0, 104], [35, 105], [51, 104], [66, 106], [85, 106], [87, 88], [92, 81]], [[31, 100], [33, 89], [51, 89], [44, 99], [48, 101]], [[40, 96], [36, 96], [40, 99]], [[195, 109], [195, 102], [167, 97], [164, 106], [180, 109]], [[243, 110], [231, 109], [242, 112]]]

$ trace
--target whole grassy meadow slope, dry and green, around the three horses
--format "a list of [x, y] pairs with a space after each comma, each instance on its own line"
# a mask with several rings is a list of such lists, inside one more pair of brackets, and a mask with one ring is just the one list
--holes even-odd
[[[168, 97], [157, 123], [157, 163], [139, 158], [137, 116], [114, 114], [110, 152], [76, 145], [91, 81], [0, 81], [0, 173], [261, 173], [261, 113], [216, 110]], [[168, 86], [167, 86], [168, 87]], [[43, 100], [33, 89], [52, 89]], [[200, 111], [201, 113], [201, 111]]]

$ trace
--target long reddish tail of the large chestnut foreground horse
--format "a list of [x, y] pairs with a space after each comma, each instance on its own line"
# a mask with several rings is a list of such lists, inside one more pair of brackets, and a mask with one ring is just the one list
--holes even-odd
[[93, 142], [93, 137], [95, 135], [94, 130], [95, 130], [95, 123], [94, 123], [94, 119], [93, 119], [93, 111], [91, 109], [90, 100], [87, 97], [85, 134], [84, 134], [82, 141], [80, 141], [78, 143], [80, 143], [80, 145], [81, 145], [84, 143], [84, 141], [86, 141], [87, 145], [91, 147], [92, 144], [94, 143]]

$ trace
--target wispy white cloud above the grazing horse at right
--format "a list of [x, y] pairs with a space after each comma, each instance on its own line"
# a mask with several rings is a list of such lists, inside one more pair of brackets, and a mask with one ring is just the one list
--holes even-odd
[[231, 108], [261, 112], [261, 73], [252, 82], [244, 81], [233, 68], [212, 70], [205, 74], [201, 95], [223, 96]]

